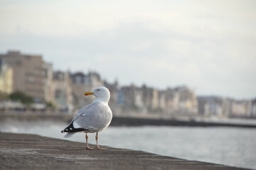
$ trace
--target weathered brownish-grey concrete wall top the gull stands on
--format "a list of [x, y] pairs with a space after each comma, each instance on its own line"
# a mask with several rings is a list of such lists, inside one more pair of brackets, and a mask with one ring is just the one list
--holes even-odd
[[239, 169], [142, 151], [107, 148], [86, 150], [85, 143], [0, 132], [0, 169]]

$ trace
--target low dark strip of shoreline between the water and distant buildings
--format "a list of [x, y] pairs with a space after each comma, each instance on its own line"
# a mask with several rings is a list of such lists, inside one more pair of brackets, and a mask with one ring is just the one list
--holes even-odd
[[[0, 122], [4, 120], [54, 120], [69, 123], [73, 115], [68, 114], [0, 114]], [[234, 128], [256, 128], [255, 123], [234, 123], [206, 120], [177, 120], [175, 118], [135, 118], [114, 116], [110, 126], [144, 126], [144, 125], [164, 125], [164, 126], [188, 126], [188, 127], [234, 127]]]

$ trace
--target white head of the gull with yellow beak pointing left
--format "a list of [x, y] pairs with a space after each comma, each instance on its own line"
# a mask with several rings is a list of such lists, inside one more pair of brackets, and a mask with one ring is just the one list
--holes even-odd
[[85, 96], [93, 95], [97, 101], [108, 102], [110, 100], [110, 91], [105, 86], [99, 86], [92, 91], [85, 92]]

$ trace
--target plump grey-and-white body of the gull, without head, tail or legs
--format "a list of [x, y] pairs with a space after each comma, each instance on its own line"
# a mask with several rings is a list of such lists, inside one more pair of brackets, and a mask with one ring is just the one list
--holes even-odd
[[101, 130], [110, 125], [112, 111], [108, 106], [92, 103], [83, 113], [74, 118], [74, 128]]

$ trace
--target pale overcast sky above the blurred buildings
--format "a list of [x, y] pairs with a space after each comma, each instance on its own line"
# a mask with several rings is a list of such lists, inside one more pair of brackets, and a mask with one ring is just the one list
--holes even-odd
[[0, 52], [197, 95], [256, 97], [256, 1], [0, 0]]

